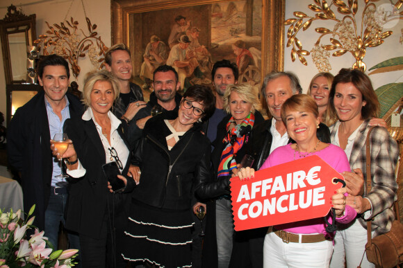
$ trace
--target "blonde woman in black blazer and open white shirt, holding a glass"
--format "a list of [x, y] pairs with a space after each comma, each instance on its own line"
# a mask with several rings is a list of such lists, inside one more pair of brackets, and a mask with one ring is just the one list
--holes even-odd
[[[122, 267], [122, 256], [116, 254], [113, 245], [114, 229], [122, 229], [119, 224], [126, 217], [126, 194], [109, 193], [103, 170], [106, 163], [114, 162], [122, 175], [129, 171], [128, 144], [120, 120], [110, 111], [119, 91], [112, 73], [89, 73], [83, 88], [83, 102], [88, 108], [81, 118], [67, 119], [64, 125], [71, 141], [63, 158], [69, 159], [67, 173], [72, 177], [66, 228], [79, 233], [83, 267]], [[54, 145], [51, 149], [59, 158]], [[125, 191], [133, 188], [133, 179], [117, 176], [128, 184]]]

